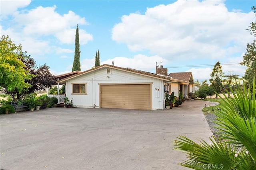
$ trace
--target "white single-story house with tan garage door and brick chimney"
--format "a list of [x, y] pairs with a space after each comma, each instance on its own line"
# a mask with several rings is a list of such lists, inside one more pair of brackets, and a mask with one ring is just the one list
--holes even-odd
[[178, 91], [178, 84], [189, 82], [168, 76], [167, 68], [156, 71], [161, 74], [103, 64], [64, 77], [58, 84], [66, 84], [66, 97], [76, 107], [164, 109], [165, 92], [174, 90], [172, 83], [177, 83]]

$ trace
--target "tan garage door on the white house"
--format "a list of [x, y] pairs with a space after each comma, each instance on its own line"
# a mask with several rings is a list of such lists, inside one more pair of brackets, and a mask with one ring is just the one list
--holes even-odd
[[151, 109], [150, 84], [101, 85], [101, 107]]

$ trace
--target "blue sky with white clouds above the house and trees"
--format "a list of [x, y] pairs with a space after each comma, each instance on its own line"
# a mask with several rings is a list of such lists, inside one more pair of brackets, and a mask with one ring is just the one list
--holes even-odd
[[155, 72], [192, 72], [209, 79], [220, 61], [225, 74], [244, 75], [240, 63], [253, 36], [255, 0], [1, 0], [1, 35], [21, 43], [37, 65], [70, 72], [79, 27], [81, 70], [100, 64]]

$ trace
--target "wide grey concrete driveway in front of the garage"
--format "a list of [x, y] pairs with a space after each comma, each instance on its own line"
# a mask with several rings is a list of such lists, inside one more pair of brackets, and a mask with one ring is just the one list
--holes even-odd
[[49, 108], [1, 115], [2, 170], [184, 170], [173, 150], [179, 135], [212, 136], [201, 111], [186, 101], [170, 110]]

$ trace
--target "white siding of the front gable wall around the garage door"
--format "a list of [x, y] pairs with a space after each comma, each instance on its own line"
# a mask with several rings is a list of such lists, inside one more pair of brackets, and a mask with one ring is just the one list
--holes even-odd
[[[77, 107], [99, 107], [99, 84], [104, 83], [152, 83], [152, 109], [164, 109], [164, 85], [163, 80], [150, 78], [135, 73], [111, 68], [111, 74], [107, 74], [107, 68], [101, 68], [82, 76], [70, 79], [66, 82], [66, 96], [73, 100]], [[71, 83], [87, 83], [87, 95], [72, 95]], [[157, 90], [155, 90], [157, 88]]]

